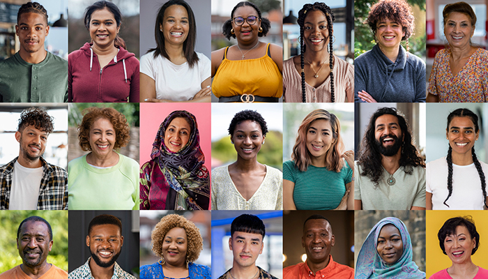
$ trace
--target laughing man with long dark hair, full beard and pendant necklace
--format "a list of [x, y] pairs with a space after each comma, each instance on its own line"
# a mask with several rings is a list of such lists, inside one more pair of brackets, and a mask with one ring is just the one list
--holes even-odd
[[413, 142], [395, 108], [374, 112], [354, 163], [354, 209], [425, 210], [425, 162]]

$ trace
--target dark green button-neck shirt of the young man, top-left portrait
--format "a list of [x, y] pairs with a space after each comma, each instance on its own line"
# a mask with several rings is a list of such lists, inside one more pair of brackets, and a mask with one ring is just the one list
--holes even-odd
[[0, 61], [0, 98], [3, 103], [63, 103], [68, 101], [68, 61], [47, 52], [37, 64], [19, 52]]

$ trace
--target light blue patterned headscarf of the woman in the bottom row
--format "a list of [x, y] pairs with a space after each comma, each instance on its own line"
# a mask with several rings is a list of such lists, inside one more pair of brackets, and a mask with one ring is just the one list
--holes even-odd
[[[381, 259], [376, 245], [381, 229], [392, 224], [399, 230], [402, 236], [403, 254], [395, 264], [387, 264]], [[367, 235], [363, 247], [359, 251], [356, 264], [356, 279], [367, 278], [395, 278], [395, 279], [423, 279], [425, 273], [418, 269], [417, 264], [412, 260], [412, 243], [409, 231], [402, 220], [394, 217], [383, 218], [374, 225]]]

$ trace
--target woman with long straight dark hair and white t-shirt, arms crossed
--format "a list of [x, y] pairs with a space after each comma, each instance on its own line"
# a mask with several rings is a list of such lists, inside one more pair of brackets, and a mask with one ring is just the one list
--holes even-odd
[[197, 25], [183, 0], [167, 1], [155, 22], [157, 47], [141, 57], [142, 102], [210, 102], [211, 63], [195, 52]]

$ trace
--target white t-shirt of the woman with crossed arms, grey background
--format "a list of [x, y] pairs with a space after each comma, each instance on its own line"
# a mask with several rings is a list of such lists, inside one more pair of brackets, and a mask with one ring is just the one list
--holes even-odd
[[204, 54], [195, 52], [199, 61], [190, 68], [188, 62], [175, 65], [154, 52], [141, 57], [140, 71], [155, 80], [156, 98], [174, 101], [190, 100], [201, 90], [201, 82], [211, 75], [211, 62]]

